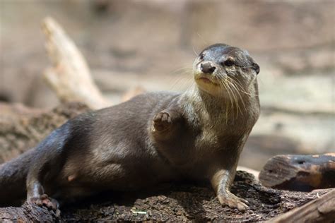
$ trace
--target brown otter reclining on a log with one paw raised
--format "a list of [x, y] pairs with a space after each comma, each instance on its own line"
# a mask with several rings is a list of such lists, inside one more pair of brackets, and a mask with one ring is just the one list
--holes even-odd
[[[70, 119], [0, 167], [0, 203], [57, 209], [57, 200], [140, 190], [178, 179], [208, 180], [222, 205], [260, 105], [259, 66], [246, 50], [213, 44], [196, 57], [183, 93], [153, 92]], [[11, 188], [11, 191], [8, 191]]]

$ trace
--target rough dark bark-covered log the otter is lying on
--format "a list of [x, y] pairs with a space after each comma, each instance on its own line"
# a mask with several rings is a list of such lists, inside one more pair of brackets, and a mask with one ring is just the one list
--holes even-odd
[[[61, 215], [24, 204], [0, 208], [0, 222], [24, 219], [38, 222], [96, 221], [238, 221], [260, 222], [281, 215], [331, 191], [310, 193], [280, 191], [261, 186], [252, 174], [237, 171], [233, 193], [249, 201], [249, 210], [240, 212], [222, 207], [213, 189], [204, 182], [175, 182], [131, 193], [104, 193], [100, 197], [61, 207]], [[45, 220], [51, 219], [51, 220]]]

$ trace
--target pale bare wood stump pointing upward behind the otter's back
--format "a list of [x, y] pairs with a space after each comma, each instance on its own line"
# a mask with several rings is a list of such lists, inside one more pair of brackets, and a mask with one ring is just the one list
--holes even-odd
[[45, 80], [61, 102], [82, 102], [91, 109], [107, 107], [108, 102], [97, 88], [90, 70], [76, 44], [52, 18], [45, 18], [42, 31], [52, 68], [44, 73]]

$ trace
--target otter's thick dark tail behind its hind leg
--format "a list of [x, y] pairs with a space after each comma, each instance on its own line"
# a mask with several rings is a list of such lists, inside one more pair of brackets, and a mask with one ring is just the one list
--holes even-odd
[[0, 165], [0, 207], [20, 205], [26, 197], [25, 181], [36, 150], [28, 150], [16, 159]]

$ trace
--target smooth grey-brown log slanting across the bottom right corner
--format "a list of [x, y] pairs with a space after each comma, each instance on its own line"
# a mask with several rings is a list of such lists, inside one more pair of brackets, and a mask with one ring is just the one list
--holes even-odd
[[335, 222], [335, 190], [301, 207], [296, 207], [283, 215], [270, 219], [269, 222]]

